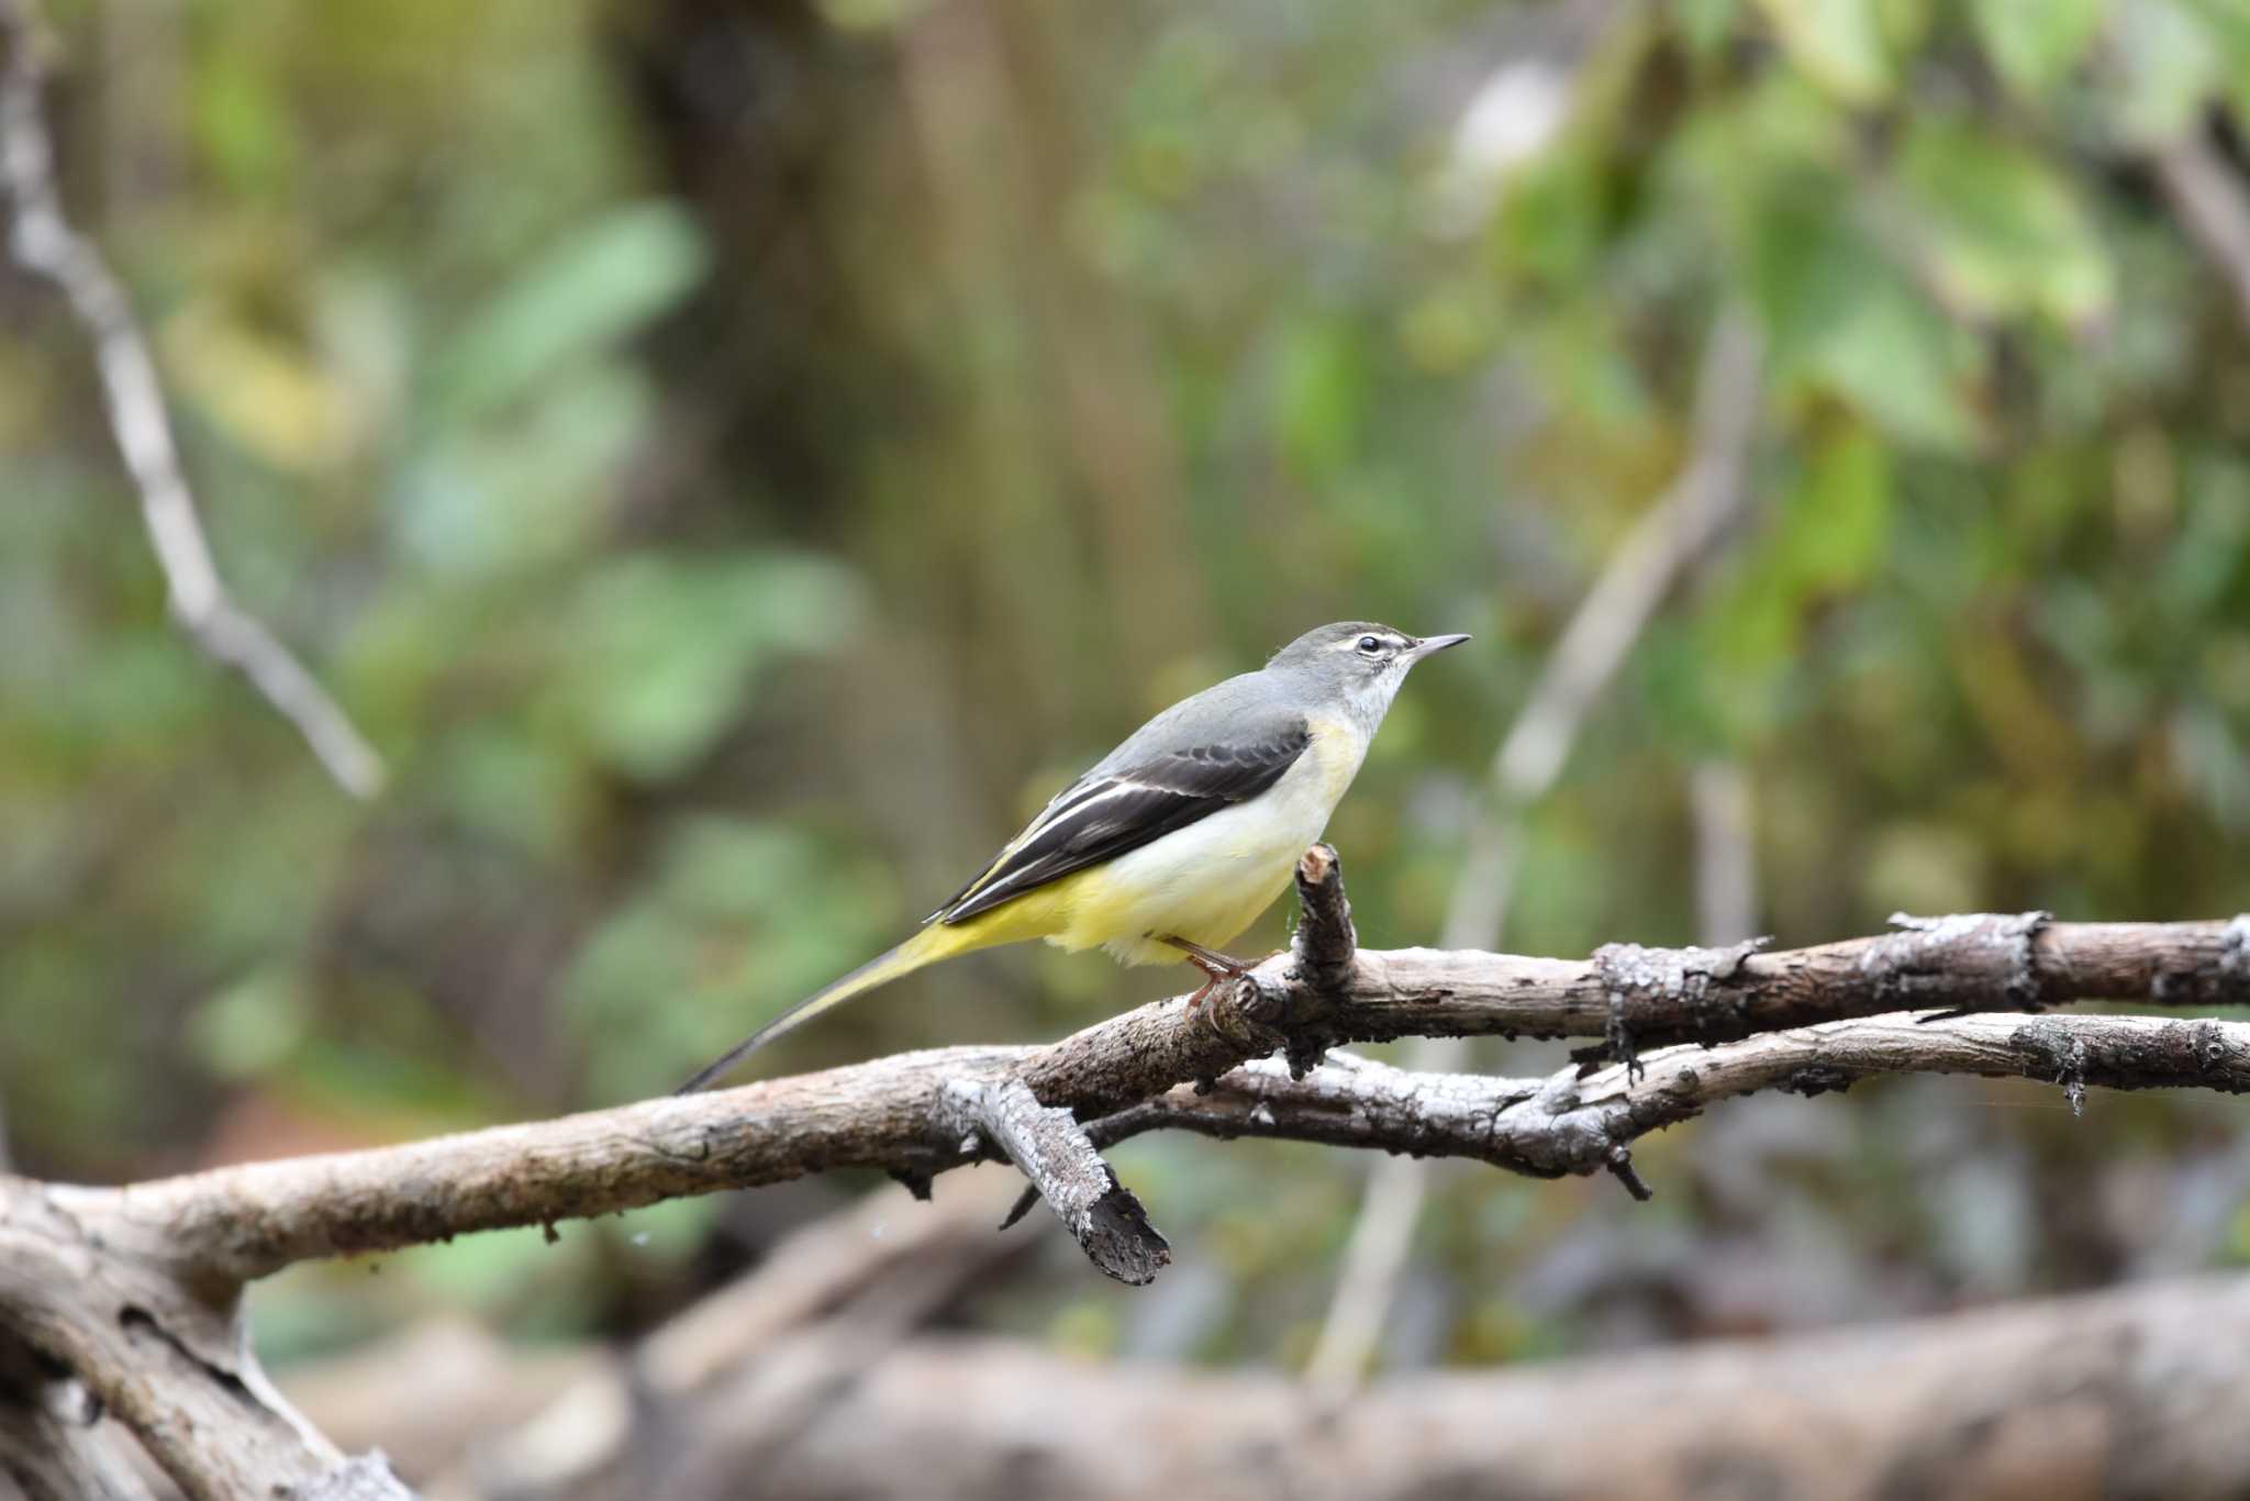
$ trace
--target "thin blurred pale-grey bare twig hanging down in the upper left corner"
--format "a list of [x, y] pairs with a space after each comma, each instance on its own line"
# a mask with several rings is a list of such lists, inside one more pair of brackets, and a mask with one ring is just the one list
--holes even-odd
[[218, 576], [164, 416], [148, 340], [117, 275], [63, 214], [40, 113], [36, 32], [32, 0], [0, 0], [0, 194], [11, 205], [14, 259], [61, 288], [92, 340], [110, 432], [140, 491], [173, 619], [209, 657], [241, 671], [346, 792], [374, 797], [382, 785], [382, 758], [297, 657], [234, 603]]

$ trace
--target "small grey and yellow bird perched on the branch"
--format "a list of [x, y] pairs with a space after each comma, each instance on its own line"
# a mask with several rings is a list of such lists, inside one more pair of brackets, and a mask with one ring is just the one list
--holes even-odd
[[1190, 1006], [1202, 1001], [1244, 972], [1217, 950], [1274, 905], [1328, 828], [1406, 668], [1467, 639], [1341, 621], [1179, 700], [1058, 792], [922, 932], [796, 1001], [680, 1091], [830, 1006], [997, 943], [1100, 943], [1125, 965], [1188, 961], [1206, 974]]

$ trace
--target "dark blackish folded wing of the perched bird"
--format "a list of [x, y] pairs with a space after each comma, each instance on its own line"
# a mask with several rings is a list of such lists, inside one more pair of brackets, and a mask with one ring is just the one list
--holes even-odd
[[1256, 740], [1163, 752], [1069, 785], [999, 860], [932, 914], [965, 923], [1051, 880], [1084, 871], [1246, 803], [1296, 765], [1312, 745], [1300, 716]]

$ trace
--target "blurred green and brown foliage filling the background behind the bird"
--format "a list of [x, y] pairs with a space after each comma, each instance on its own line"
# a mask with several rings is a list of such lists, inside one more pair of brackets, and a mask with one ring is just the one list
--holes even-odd
[[[1768, 362], [1753, 520], [1532, 812], [1510, 943], [1694, 936], [1706, 758], [1750, 774], [1784, 943], [2250, 905], [2250, 308], [2151, 167], [2198, 140], [2250, 189], [2232, 0], [54, 20], [65, 191], [158, 340], [220, 563], [396, 779], [351, 806], [166, 628], [83, 340], [0, 275], [0, 1103], [29, 1170], [659, 1089], [907, 932], [1138, 718], [1336, 617], [1478, 632], [1330, 830], [1364, 938], [1431, 941], [1510, 709], [1692, 457], [1728, 308]], [[968, 961], [765, 1067], [1051, 1035], [1166, 983]], [[1393, 1357], [2250, 1253], [2223, 1107], [1861, 1094], [1652, 1145], [1654, 1208], [1447, 1177]], [[983, 1316], [1303, 1355], [1361, 1163], [1123, 1161], [1184, 1247], [1156, 1298], [1064, 1256]], [[632, 1323], [817, 1195], [416, 1253], [380, 1296], [304, 1269], [263, 1307], [284, 1346], [430, 1301]]]

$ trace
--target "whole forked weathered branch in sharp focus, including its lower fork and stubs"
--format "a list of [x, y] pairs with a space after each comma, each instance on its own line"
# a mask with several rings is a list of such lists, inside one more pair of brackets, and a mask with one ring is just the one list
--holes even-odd
[[[1163, 1242], [1098, 1157], [1100, 1143], [1136, 1130], [1458, 1154], [1541, 1177], [1606, 1170], [1647, 1193], [1627, 1143], [1753, 1089], [1820, 1091], [1881, 1071], [2020, 1073], [2070, 1091], [2250, 1087], [2250, 1024], [1980, 1015], [2090, 997], [2250, 1001], [2250, 918], [1901, 918], [1904, 932], [1782, 954], [1611, 945], [1568, 963], [1357, 954], [1341, 869], [1325, 846], [1300, 862], [1298, 889], [1305, 920], [1292, 954], [1215, 988], [1197, 1010], [1174, 997], [1048, 1046], [904, 1053], [722, 1094], [128, 1188], [0, 1177], [0, 1346], [32, 1350], [83, 1382], [191, 1496], [277, 1485], [360, 1494], [346, 1487], [394, 1485], [380, 1460], [346, 1463], [310, 1431], [266, 1384], [243, 1339], [243, 1283], [295, 1260], [554, 1224], [830, 1168], [882, 1168], [927, 1184], [947, 1168], [1008, 1157], [1105, 1271], [1148, 1280]], [[1917, 1019], [1901, 1006], [1946, 1010]], [[1523, 1031], [1602, 1037], [1616, 1062], [1588, 1060], [1546, 1080], [1431, 1076], [1352, 1058], [1314, 1069], [1330, 1044], [1352, 1037]], [[1645, 1051], [1706, 1040], [1714, 1046]], [[1285, 1060], [1267, 1060], [1276, 1051]], [[929, 1294], [907, 1287], [898, 1296]], [[842, 1379], [853, 1355], [832, 1348], [812, 1368], [830, 1375], [792, 1386], [792, 1402]]]

